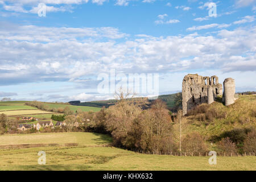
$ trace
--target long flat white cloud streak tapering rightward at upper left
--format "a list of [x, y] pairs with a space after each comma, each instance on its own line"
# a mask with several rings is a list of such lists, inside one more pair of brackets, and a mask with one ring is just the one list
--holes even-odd
[[[3, 24], [3, 23], [2, 23]], [[3, 24], [5, 25], [5, 24]], [[5, 26], [12, 26], [6, 24]], [[69, 28], [69, 27], [38, 27], [38, 26], [14, 26], [16, 30], [6, 31], [5, 27], [0, 28], [0, 39], [36, 41], [36, 42], [55, 42], [57, 40], [76, 40], [88, 37], [119, 39], [129, 36], [118, 31], [113, 27], [101, 28]]]

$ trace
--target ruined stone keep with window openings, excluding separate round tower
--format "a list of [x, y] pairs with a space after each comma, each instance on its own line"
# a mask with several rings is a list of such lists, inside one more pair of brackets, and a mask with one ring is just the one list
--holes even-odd
[[[210, 91], [208, 92], [209, 89]], [[210, 93], [210, 103], [217, 96], [222, 95], [222, 85], [218, 83], [217, 76], [203, 77], [197, 74], [186, 75], [182, 84], [183, 114], [187, 114], [188, 110], [197, 105], [207, 103], [208, 93]]]

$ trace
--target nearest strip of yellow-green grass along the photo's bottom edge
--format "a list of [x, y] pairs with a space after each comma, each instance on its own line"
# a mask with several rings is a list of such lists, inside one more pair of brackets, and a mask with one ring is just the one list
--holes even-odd
[[[39, 151], [46, 152], [46, 165], [38, 164]], [[38, 147], [5, 150], [0, 170], [255, 170], [256, 157], [209, 157], [145, 155], [115, 147]]]

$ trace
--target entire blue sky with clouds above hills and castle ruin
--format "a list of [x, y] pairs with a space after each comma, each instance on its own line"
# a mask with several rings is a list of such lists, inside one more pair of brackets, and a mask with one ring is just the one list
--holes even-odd
[[111, 99], [111, 71], [158, 75], [159, 94], [189, 73], [256, 91], [255, 13], [256, 0], [0, 0], [0, 100]]

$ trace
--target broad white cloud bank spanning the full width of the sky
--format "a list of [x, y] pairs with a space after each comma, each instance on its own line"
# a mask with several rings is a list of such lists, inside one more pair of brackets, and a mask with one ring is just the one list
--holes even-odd
[[[198, 69], [234, 72], [241, 65], [241, 72], [256, 69], [256, 27], [221, 30], [216, 36], [138, 35], [136, 39], [127, 36], [127, 40], [121, 42], [110, 38], [101, 40], [102, 29], [3, 24], [0, 85], [51, 80], [97, 88], [97, 75], [109, 73], [111, 68], [119, 73], [182, 72], [183, 75]], [[84, 38], [85, 32], [94, 36], [93, 39]], [[86, 81], [86, 78], [92, 79]], [[76, 96], [90, 99], [88, 94]], [[72, 100], [76, 100], [75, 97]]]

